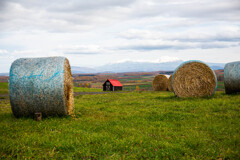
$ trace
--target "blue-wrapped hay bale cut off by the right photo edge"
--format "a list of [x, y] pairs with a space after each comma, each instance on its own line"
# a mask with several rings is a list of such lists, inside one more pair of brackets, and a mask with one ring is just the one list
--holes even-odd
[[240, 92], [240, 61], [225, 65], [224, 86], [226, 94]]

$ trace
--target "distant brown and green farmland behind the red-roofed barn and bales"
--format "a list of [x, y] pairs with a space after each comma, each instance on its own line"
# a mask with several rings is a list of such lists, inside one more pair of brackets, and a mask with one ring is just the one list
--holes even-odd
[[[73, 74], [73, 82], [75, 86], [79, 83], [91, 84], [91, 88], [102, 88], [102, 84], [106, 79], [118, 79], [123, 86], [123, 90], [135, 90], [136, 86], [141, 89], [152, 90], [151, 83], [157, 74], [164, 74], [168, 72], [132, 72], [132, 73], [108, 73], [108, 74]], [[170, 73], [170, 72], [169, 72]], [[215, 70], [218, 81], [223, 81], [223, 70]], [[8, 82], [8, 76], [0, 76], [0, 82]], [[223, 90], [222, 83], [219, 82], [220, 90]], [[218, 89], [218, 90], [219, 90]]]

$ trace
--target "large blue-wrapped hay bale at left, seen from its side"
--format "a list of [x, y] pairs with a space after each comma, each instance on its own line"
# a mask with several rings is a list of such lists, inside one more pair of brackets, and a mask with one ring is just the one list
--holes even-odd
[[65, 57], [20, 58], [9, 76], [12, 112], [16, 117], [67, 115], [73, 111], [71, 68]]

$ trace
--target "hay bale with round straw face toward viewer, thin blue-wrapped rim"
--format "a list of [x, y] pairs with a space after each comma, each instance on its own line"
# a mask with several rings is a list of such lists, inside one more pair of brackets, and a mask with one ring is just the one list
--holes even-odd
[[205, 63], [187, 61], [174, 71], [171, 83], [178, 97], [205, 97], [214, 94], [217, 78]]

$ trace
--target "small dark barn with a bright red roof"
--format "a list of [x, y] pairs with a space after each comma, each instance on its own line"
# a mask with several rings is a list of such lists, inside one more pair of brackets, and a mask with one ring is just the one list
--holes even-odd
[[117, 79], [107, 79], [103, 83], [103, 91], [121, 91], [123, 85]]

